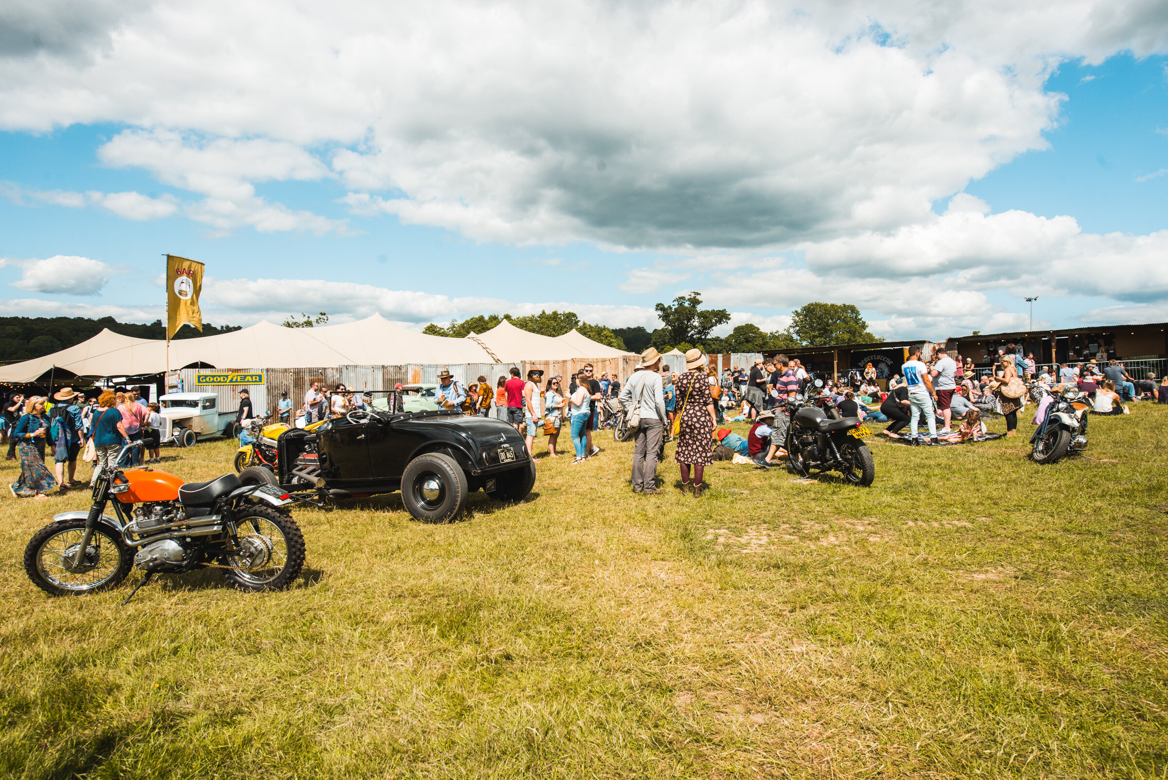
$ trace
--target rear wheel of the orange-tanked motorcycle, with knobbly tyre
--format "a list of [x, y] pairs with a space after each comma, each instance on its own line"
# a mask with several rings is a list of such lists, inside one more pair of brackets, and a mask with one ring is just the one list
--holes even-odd
[[267, 507], [243, 506], [236, 520], [239, 552], [222, 556], [227, 578], [246, 591], [287, 587], [304, 566], [304, 535], [287, 515]]

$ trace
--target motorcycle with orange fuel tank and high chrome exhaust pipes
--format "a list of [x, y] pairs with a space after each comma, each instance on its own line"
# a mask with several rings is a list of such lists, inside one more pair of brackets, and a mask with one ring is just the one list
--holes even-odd
[[[118, 460], [138, 446], [124, 446]], [[279, 487], [244, 486], [235, 474], [183, 483], [151, 468], [103, 471], [88, 511], [54, 515], [33, 535], [25, 571], [37, 587], [64, 596], [114, 587], [133, 565], [146, 576], [126, 601], [158, 572], [200, 566], [222, 569], [243, 590], [281, 590], [305, 557], [288, 503]]]

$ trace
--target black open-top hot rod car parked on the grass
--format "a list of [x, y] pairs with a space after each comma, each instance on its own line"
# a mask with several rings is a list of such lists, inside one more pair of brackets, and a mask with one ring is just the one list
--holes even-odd
[[406, 412], [392, 391], [382, 403], [312, 432], [285, 430], [274, 468], [245, 468], [241, 481], [279, 485], [310, 501], [401, 490], [409, 513], [430, 522], [457, 516], [472, 490], [505, 501], [531, 492], [535, 462], [507, 423], [458, 410]]

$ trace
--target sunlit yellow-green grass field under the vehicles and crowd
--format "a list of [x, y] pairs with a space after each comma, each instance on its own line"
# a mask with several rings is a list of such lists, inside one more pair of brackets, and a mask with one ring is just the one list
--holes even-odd
[[[1092, 419], [1103, 460], [1031, 464], [1030, 430], [877, 437], [868, 489], [717, 464], [700, 500], [673, 462], [633, 496], [632, 445], [600, 437], [452, 524], [397, 495], [299, 509], [292, 590], [199, 572], [126, 607], [138, 572], [53, 599], [21, 566], [86, 492], [6, 496], [0, 773], [1166, 776], [1168, 410]], [[232, 453], [162, 468], [207, 479]]]

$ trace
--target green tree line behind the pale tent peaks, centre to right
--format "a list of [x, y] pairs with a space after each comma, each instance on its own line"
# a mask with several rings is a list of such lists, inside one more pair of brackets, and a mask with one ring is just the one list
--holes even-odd
[[686, 351], [694, 347], [710, 354], [759, 353], [883, 341], [868, 330], [868, 322], [851, 304], [814, 301], [792, 312], [791, 325], [785, 330], [766, 332], [757, 325], [746, 323], [735, 327], [725, 336], [715, 336], [712, 332], [730, 321], [730, 312], [724, 308], [702, 308], [702, 297], [697, 292], [679, 295], [673, 301], [658, 304], [653, 308], [661, 320], [661, 327], [654, 330], [642, 326], [609, 328], [584, 322], [575, 312], [542, 311], [527, 316], [480, 314], [461, 322], [451, 320], [445, 326], [431, 322], [423, 333], [463, 339], [472, 333], [485, 333], [507, 320], [516, 328], [543, 336], [562, 336], [576, 328], [592, 341], [632, 353], [645, 351], [648, 347], [656, 347], [662, 353], [674, 348]]

